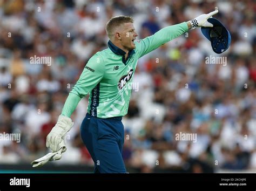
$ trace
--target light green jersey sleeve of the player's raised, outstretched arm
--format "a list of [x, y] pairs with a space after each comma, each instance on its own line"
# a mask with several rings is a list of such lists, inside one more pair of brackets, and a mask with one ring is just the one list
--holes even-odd
[[138, 49], [139, 58], [157, 49], [159, 46], [169, 42], [170, 40], [177, 38], [187, 30], [187, 23], [183, 22], [180, 24], [167, 26], [154, 33], [154, 35], [139, 40], [136, 42], [136, 49]]

